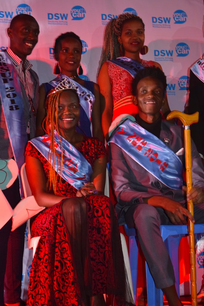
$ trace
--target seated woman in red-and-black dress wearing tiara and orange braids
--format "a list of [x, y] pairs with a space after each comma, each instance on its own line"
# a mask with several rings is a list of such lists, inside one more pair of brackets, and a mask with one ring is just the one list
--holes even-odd
[[104, 293], [114, 295], [114, 305], [133, 305], [117, 217], [103, 195], [105, 147], [76, 132], [80, 103], [73, 84], [51, 90], [46, 104], [46, 135], [25, 150], [32, 193], [46, 207], [31, 219], [32, 236], [41, 238], [27, 305], [104, 306]]

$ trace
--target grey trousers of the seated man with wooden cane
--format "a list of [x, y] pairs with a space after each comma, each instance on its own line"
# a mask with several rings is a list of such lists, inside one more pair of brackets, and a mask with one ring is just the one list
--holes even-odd
[[[194, 205], [195, 223], [204, 223], [204, 203]], [[139, 243], [157, 288], [175, 283], [168, 251], [161, 237], [160, 225], [172, 225], [161, 207], [141, 203], [132, 205], [125, 215], [128, 227], [135, 227]]]

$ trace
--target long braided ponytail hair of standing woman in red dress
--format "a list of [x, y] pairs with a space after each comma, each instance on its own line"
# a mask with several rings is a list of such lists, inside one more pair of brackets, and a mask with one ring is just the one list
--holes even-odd
[[[121, 35], [121, 30], [123, 25], [126, 21], [136, 20], [141, 22], [144, 26], [143, 20], [134, 14], [121, 14], [117, 18], [113, 18], [109, 23], [106, 25], [103, 37], [103, 47], [101, 58], [99, 61], [98, 73], [101, 69], [103, 63], [109, 59], [118, 58], [121, 56], [120, 54], [120, 43], [118, 42], [118, 36]], [[97, 75], [98, 75], [97, 73]]]

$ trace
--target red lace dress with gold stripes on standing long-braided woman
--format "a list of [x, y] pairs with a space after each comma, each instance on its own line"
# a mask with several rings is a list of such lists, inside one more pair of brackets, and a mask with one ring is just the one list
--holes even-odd
[[[108, 66], [109, 80], [112, 86], [113, 96], [113, 119], [122, 114], [129, 114], [135, 117], [138, 107], [132, 103], [132, 75], [125, 69], [106, 61]], [[154, 62], [142, 60], [144, 67], [154, 66]]]

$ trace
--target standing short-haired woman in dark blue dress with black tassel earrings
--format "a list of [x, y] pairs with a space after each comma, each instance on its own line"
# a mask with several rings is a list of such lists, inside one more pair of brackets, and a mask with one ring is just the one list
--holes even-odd
[[[49, 83], [43, 83], [39, 90], [39, 107], [36, 119], [36, 136], [44, 134], [42, 121], [45, 117], [45, 100], [48, 91], [57, 86], [63, 78], [72, 80], [77, 87], [80, 97], [80, 120], [76, 127], [79, 133], [86, 136], [98, 137], [102, 142], [104, 136], [101, 127], [101, 110], [99, 100], [99, 87], [91, 81], [82, 80], [79, 75], [83, 74], [80, 65], [82, 54], [82, 42], [80, 37], [73, 32], [66, 32], [58, 36], [54, 44], [54, 58], [57, 61], [55, 74], [57, 78]], [[84, 94], [85, 93], [85, 94]], [[91, 133], [92, 124], [92, 133]]]

